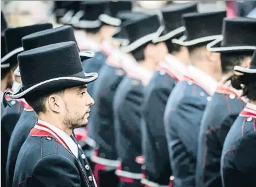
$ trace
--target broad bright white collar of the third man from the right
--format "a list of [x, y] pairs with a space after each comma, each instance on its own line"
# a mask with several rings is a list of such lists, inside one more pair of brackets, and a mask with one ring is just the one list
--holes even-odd
[[195, 67], [194, 65], [189, 65], [188, 74], [189, 76], [202, 85], [203, 89], [207, 91], [210, 95], [213, 95], [217, 89], [218, 82], [210, 75], [206, 74], [204, 71]]

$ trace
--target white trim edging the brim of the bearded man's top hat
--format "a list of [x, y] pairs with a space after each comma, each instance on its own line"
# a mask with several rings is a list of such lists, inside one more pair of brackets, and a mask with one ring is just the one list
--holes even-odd
[[[31, 92], [31, 90], [34, 90], [36, 89], [37, 87], [43, 85], [43, 84], [47, 84], [49, 82], [54, 82], [54, 81], [57, 81], [57, 80], [76, 80], [76, 81], [79, 81], [79, 82], [92, 82], [93, 80], [96, 80], [97, 77], [98, 77], [98, 74], [97, 73], [89, 73], [89, 74], [86, 74], [84, 73], [84, 76], [85, 78], [80, 78], [80, 77], [73, 77], [74, 75], [72, 75], [72, 77], [57, 77], [57, 78], [54, 78], [54, 79], [49, 79], [49, 80], [44, 80], [36, 85], [33, 85], [32, 87], [29, 87], [28, 89], [24, 90], [23, 92], [21, 93], [18, 93], [21, 88], [22, 88], [22, 84], [19, 86], [19, 88], [15, 91], [15, 92], [12, 92], [12, 94], [10, 95], [10, 97], [12, 99], [16, 99], [16, 98], [20, 98], [22, 97], [23, 95], [25, 95], [26, 93], [29, 93]], [[86, 78], [87, 77], [87, 78]]]

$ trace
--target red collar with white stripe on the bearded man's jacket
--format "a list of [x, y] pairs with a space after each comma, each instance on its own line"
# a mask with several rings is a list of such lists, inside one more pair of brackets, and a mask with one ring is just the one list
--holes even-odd
[[54, 138], [56, 141], [61, 143], [66, 150], [68, 150], [71, 153], [71, 150], [67, 146], [64, 140], [62, 140], [57, 133], [51, 130], [51, 128], [47, 127], [46, 125], [42, 125], [41, 123], [36, 123], [36, 125], [32, 128], [30, 131], [29, 135], [34, 136], [34, 137], [51, 137]]

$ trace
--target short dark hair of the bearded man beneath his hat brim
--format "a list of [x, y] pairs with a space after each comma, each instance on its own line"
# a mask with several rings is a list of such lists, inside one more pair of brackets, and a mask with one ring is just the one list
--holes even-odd
[[33, 108], [34, 112], [36, 112], [37, 114], [44, 113], [46, 112], [46, 100], [52, 94], [63, 95], [64, 90], [49, 93], [47, 95], [42, 95], [40, 97], [34, 97], [32, 95], [29, 95], [25, 97], [25, 100]]

